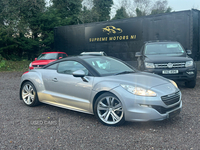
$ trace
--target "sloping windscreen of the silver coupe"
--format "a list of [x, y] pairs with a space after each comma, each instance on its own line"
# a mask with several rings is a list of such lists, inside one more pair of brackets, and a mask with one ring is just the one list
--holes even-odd
[[84, 58], [84, 60], [90, 64], [101, 76], [135, 72], [128, 65], [110, 57], [90, 57]]

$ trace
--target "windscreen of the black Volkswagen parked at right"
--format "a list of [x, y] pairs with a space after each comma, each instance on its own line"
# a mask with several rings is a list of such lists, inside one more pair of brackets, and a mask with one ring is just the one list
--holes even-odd
[[185, 51], [179, 43], [158, 43], [146, 45], [145, 55], [181, 55]]

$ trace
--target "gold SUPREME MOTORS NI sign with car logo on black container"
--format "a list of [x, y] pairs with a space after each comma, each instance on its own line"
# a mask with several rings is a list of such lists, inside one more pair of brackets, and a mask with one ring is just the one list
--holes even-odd
[[85, 27], [86, 42], [116, 42], [141, 40], [140, 26], [121, 23], [116, 25], [96, 25]]

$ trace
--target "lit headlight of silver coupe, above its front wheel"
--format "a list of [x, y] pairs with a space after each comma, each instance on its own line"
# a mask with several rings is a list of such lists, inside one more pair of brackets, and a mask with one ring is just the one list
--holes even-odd
[[156, 96], [156, 93], [154, 91], [147, 90], [141, 87], [135, 87], [135, 86], [126, 85], [126, 84], [121, 84], [121, 87], [123, 87], [125, 90], [127, 90], [128, 92], [134, 95], [149, 96], [149, 97]]

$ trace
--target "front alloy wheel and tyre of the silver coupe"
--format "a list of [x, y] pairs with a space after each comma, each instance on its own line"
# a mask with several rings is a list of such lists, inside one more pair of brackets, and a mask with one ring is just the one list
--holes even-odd
[[104, 125], [118, 126], [125, 122], [122, 103], [112, 93], [104, 93], [97, 98], [94, 114]]

